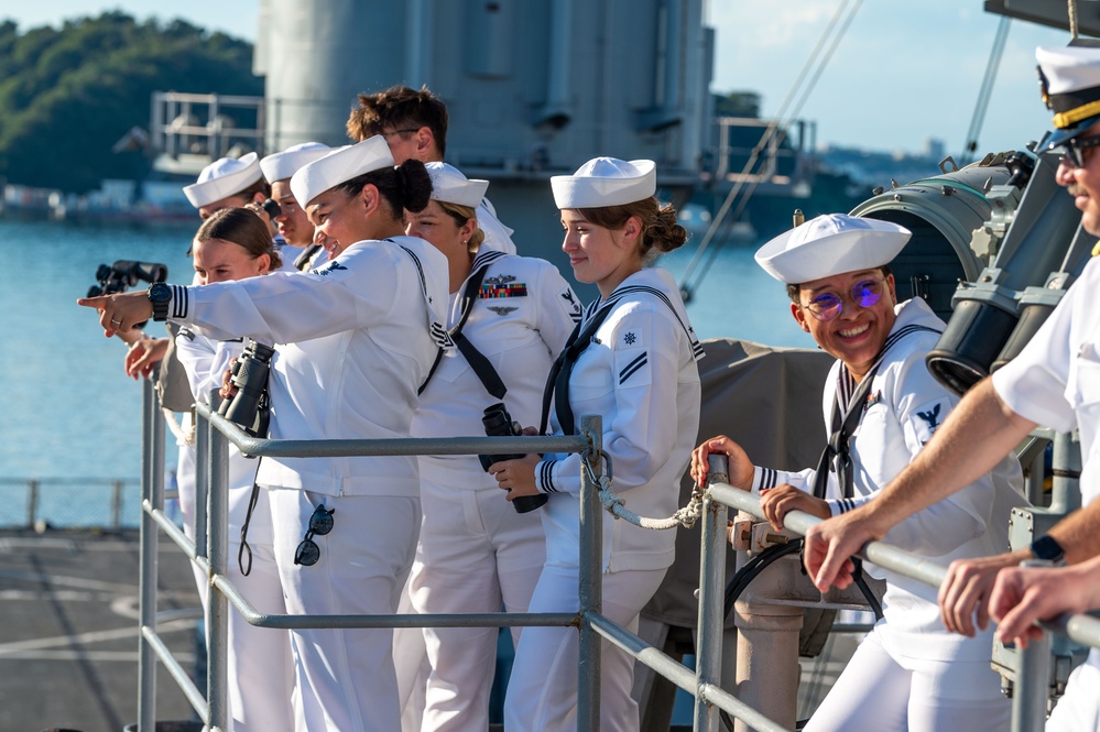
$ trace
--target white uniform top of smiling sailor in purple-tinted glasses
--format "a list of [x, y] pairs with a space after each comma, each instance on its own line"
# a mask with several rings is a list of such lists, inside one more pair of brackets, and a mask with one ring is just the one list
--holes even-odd
[[[906, 301], [895, 308], [897, 320], [891, 336], [913, 326], [941, 331], [943, 320], [923, 299]], [[889, 345], [882, 364], [872, 378], [863, 417], [851, 439], [854, 498], [843, 499], [836, 473], [829, 473], [827, 499], [834, 515], [867, 503], [897, 476], [924, 447], [958, 397], [937, 382], [925, 365], [925, 356], [938, 340], [936, 332], [910, 331]], [[834, 395], [840, 369], [837, 361], [826, 381], [823, 407], [826, 435], [831, 429]], [[824, 447], [824, 445], [823, 445]], [[752, 490], [789, 483], [813, 491], [815, 470], [786, 472], [756, 468]], [[1009, 514], [1026, 505], [1020, 463], [1006, 457], [980, 479], [897, 524], [884, 540], [908, 551], [935, 557], [947, 566], [954, 559], [982, 557], [1009, 549]], [[969, 638], [947, 633], [936, 604], [936, 589], [865, 562], [864, 568], [889, 584], [883, 598], [880, 626], [904, 655], [939, 657], [958, 654]], [[972, 644], [974, 653], [989, 655], [989, 645]], [[959, 657], [956, 655], [956, 657]]]

